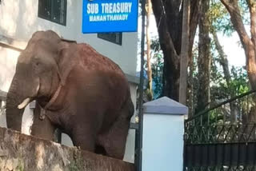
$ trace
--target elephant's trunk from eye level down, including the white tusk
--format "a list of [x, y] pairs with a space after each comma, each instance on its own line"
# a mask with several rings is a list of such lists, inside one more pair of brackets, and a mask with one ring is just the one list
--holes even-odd
[[16, 66], [6, 98], [6, 123], [10, 129], [21, 131], [24, 109], [38, 94], [40, 80], [33, 77], [31, 68], [24, 63]]

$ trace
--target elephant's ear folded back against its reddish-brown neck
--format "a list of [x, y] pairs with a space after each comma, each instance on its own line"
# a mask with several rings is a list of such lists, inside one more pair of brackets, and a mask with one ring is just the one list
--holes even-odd
[[65, 85], [70, 71], [78, 64], [76, 43], [65, 41], [59, 43], [57, 64], [61, 84]]

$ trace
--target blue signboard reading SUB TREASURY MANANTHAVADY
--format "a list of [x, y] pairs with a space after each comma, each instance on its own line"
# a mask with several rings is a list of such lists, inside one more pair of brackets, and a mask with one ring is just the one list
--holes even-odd
[[83, 0], [82, 33], [135, 32], [138, 0]]

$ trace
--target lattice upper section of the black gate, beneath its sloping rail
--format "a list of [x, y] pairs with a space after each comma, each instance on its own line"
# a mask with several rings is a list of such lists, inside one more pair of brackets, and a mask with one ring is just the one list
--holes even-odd
[[186, 120], [186, 144], [256, 141], [255, 92], [243, 93]]

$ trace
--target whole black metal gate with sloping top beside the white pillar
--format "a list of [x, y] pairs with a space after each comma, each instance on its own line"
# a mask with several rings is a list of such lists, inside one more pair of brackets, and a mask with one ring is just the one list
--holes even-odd
[[186, 120], [184, 170], [256, 170], [254, 92]]

